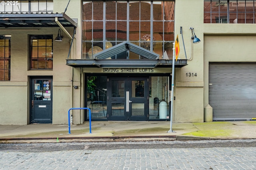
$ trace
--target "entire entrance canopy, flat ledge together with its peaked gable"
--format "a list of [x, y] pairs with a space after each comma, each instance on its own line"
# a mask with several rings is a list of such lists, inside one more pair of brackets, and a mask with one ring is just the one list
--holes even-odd
[[[129, 51], [143, 57], [143, 59], [129, 59]], [[116, 59], [115, 56], [126, 56], [126, 59]], [[94, 55], [94, 59], [67, 59], [67, 65], [72, 67], [96, 68], [172, 68], [172, 60], [159, 60], [159, 55], [134, 45], [127, 41]], [[178, 60], [175, 67], [187, 65], [187, 60]]]

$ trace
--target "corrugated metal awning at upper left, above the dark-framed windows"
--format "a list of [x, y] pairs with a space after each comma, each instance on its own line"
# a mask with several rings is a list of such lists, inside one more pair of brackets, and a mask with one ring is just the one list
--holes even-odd
[[61, 14], [0, 14], [0, 28], [12, 27], [59, 27], [55, 20], [64, 27], [77, 27], [77, 21]]

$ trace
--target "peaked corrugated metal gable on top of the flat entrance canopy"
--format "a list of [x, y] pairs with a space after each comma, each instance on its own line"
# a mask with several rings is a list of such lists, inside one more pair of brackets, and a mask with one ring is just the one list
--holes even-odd
[[109, 49], [106, 49], [104, 51], [101, 51], [94, 55], [94, 59], [108, 59], [109, 57], [112, 57], [114, 55], [118, 55], [123, 52], [131, 51], [133, 53], [136, 53], [142, 57], [145, 57], [146, 59], [157, 59], [159, 57], [158, 54], [153, 53], [152, 51], [149, 51], [147, 49], [144, 49], [138, 45], [135, 45], [133, 43], [129, 43], [127, 41], [122, 42], [118, 45], [115, 45]]

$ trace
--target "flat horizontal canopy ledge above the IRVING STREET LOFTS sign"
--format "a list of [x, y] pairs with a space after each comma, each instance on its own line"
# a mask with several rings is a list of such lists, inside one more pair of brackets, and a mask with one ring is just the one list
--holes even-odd
[[[114, 60], [88, 60], [88, 59], [66, 59], [66, 64], [72, 67], [94, 67], [94, 68], [172, 68], [172, 60], [156, 59], [114, 59]], [[187, 65], [187, 60], [177, 60], [175, 67], [180, 68]]]

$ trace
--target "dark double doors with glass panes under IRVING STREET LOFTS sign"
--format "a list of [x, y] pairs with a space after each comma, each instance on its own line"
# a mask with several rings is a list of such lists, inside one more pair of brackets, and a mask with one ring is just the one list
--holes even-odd
[[108, 120], [148, 120], [148, 77], [109, 77]]

